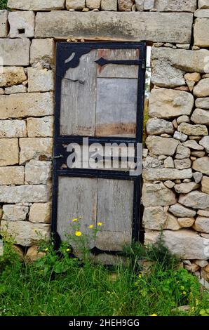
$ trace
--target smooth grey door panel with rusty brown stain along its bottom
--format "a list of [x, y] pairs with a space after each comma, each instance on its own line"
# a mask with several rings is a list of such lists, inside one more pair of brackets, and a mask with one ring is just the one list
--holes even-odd
[[135, 137], [137, 79], [97, 79], [96, 136]]

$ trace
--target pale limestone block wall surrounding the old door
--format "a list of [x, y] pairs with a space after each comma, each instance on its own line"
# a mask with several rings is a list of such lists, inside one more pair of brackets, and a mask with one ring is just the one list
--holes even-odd
[[0, 11], [1, 231], [15, 233], [22, 246], [36, 244], [36, 232], [50, 232], [55, 42], [152, 41], [145, 242], [163, 228], [185, 267], [207, 277], [208, 0], [8, 0], [8, 6], [11, 12]]

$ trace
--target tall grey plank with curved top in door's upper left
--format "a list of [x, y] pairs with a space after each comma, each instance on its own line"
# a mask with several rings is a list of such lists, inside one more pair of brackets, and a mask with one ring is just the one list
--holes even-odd
[[94, 136], [97, 51], [81, 56], [78, 67], [62, 79], [60, 133]]

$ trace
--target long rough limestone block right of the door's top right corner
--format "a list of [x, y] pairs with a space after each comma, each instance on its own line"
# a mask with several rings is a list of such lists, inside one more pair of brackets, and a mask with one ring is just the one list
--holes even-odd
[[209, 56], [209, 51], [201, 49], [199, 51], [189, 51], [185, 49], [172, 49], [168, 47], [153, 47], [152, 60], [168, 61], [173, 67], [186, 72], [207, 73], [208, 65], [205, 65]]

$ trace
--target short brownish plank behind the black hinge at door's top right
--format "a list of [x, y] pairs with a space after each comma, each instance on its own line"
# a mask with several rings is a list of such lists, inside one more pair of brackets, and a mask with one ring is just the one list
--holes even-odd
[[[139, 49], [100, 49], [98, 59], [105, 60], [138, 60]], [[97, 65], [99, 78], [137, 78], [139, 67], [137, 65]]]

